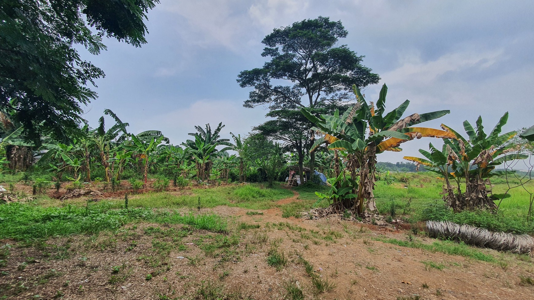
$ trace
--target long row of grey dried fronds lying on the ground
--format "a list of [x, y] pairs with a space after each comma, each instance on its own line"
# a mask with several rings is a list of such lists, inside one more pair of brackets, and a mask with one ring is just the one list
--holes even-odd
[[431, 237], [452, 238], [477, 247], [534, 254], [534, 238], [528, 234], [491, 232], [449, 221], [427, 221], [427, 229]]

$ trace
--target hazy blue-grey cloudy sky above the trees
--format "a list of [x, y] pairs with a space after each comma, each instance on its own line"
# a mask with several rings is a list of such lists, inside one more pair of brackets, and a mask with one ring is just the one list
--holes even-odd
[[[252, 88], [236, 82], [242, 70], [260, 68], [262, 39], [274, 28], [319, 15], [340, 20], [346, 44], [365, 55], [381, 77], [363, 92], [376, 101], [383, 83], [386, 106], [411, 101], [405, 115], [451, 111], [439, 124], [464, 132], [480, 115], [491, 130], [509, 112], [504, 132], [534, 124], [534, 1], [161, 0], [148, 13], [147, 44], [136, 48], [108, 39], [108, 50], [82, 57], [106, 77], [93, 88], [99, 98], [85, 108], [93, 126], [104, 109], [128, 122], [129, 132], [160, 130], [178, 145], [194, 126], [226, 127], [222, 137], [246, 135], [263, 123], [266, 108], [244, 108]], [[388, 110], [388, 111], [389, 111]], [[111, 119], [107, 119], [112, 122]], [[417, 156], [435, 138], [402, 144], [379, 161]]]

